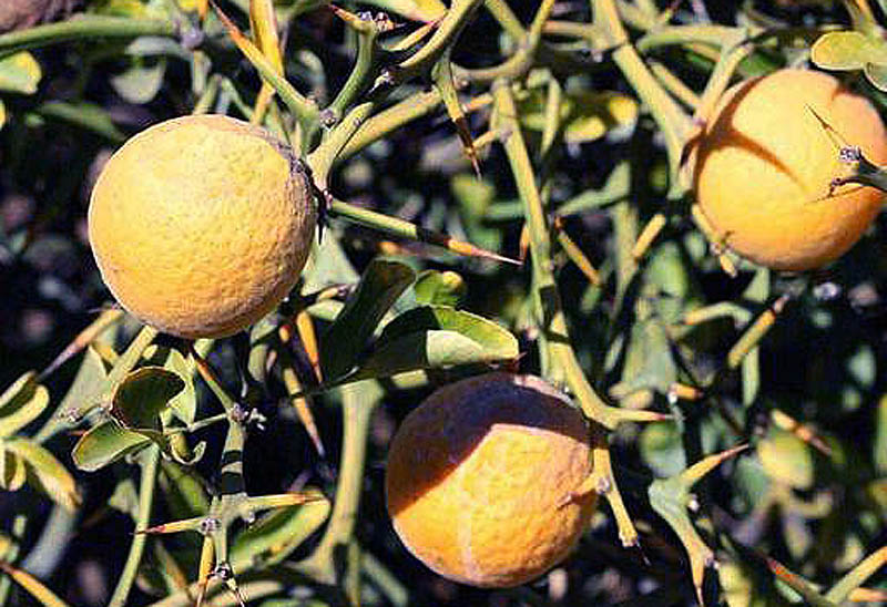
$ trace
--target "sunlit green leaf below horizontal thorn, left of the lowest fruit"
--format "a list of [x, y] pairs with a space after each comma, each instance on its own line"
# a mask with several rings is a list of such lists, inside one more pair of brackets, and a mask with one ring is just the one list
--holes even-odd
[[256, 558], [264, 564], [279, 563], [326, 522], [330, 510], [329, 502], [320, 500], [262, 516], [234, 539], [232, 566], [235, 570], [252, 566]]

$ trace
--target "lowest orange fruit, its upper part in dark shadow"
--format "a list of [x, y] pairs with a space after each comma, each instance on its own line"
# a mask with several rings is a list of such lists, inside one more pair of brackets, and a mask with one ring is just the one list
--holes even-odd
[[588, 428], [563, 394], [536, 377], [489, 373], [407, 415], [388, 454], [388, 512], [438, 574], [517, 586], [579, 539], [595, 498], [563, 501], [590, 473]]

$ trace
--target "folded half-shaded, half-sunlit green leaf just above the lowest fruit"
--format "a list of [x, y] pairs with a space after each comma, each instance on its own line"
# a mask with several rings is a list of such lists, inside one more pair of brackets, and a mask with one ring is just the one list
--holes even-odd
[[518, 340], [496, 322], [446, 306], [424, 306], [389, 322], [373, 353], [349, 380], [509, 361], [519, 353]]

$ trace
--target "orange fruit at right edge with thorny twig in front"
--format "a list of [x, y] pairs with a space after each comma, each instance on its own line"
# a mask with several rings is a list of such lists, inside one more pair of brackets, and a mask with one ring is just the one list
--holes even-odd
[[880, 209], [883, 194], [832, 179], [847, 174], [813, 112], [876, 164], [887, 162], [873, 105], [833, 76], [781, 70], [730, 89], [701, 140], [696, 198], [725, 244], [774, 269], [806, 270], [840, 257]]

